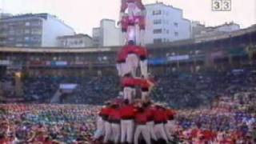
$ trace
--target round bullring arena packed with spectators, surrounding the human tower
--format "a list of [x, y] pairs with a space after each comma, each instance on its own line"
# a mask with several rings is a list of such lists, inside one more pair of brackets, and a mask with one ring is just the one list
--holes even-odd
[[[255, 142], [255, 26], [147, 48], [149, 97], [174, 117], [169, 143]], [[118, 49], [0, 47], [0, 143], [101, 143], [98, 113], [122, 97]]]

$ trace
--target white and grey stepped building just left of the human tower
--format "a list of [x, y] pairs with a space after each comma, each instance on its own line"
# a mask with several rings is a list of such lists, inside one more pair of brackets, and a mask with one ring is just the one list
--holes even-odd
[[93, 29], [94, 46], [121, 46], [122, 34], [115, 21], [102, 19], [99, 27]]

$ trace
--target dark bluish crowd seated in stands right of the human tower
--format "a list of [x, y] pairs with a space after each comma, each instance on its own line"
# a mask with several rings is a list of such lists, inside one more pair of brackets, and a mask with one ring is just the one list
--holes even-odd
[[151, 98], [174, 108], [210, 106], [221, 94], [234, 94], [256, 86], [254, 70], [212, 71], [197, 74], [166, 73], [156, 76], [157, 86]]

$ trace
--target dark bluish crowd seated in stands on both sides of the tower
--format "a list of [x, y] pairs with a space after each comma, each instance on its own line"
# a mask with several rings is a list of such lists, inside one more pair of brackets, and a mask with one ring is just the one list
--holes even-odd
[[[166, 73], [155, 76], [150, 98], [174, 108], [210, 105], [220, 94], [234, 94], [255, 86], [254, 70], [236, 72]], [[13, 83], [13, 82], [12, 82]], [[78, 88], [63, 99], [66, 104], [103, 104], [122, 90], [118, 76], [24, 78], [26, 101], [49, 102], [62, 83], [75, 83]]]

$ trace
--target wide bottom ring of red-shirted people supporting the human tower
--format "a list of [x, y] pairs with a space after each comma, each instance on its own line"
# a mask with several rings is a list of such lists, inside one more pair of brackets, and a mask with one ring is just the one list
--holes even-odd
[[106, 102], [98, 113], [93, 144], [178, 143], [174, 110], [150, 100], [117, 98]]

